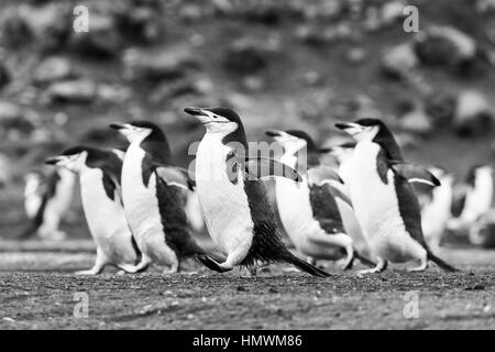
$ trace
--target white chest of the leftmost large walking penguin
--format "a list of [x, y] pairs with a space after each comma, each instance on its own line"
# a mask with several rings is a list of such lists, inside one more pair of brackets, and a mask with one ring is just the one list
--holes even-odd
[[99, 168], [88, 168], [79, 176], [82, 209], [89, 231], [109, 260], [116, 263], [132, 262], [135, 260], [132, 234], [119, 195], [116, 193], [113, 200], [108, 197], [102, 177], [103, 173]]

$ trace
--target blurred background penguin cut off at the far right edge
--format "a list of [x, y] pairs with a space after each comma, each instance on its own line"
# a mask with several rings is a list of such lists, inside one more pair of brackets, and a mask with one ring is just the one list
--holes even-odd
[[449, 229], [460, 230], [472, 227], [490, 210], [493, 194], [493, 167], [487, 164], [472, 166], [461, 188], [454, 189], [453, 219], [449, 221]]

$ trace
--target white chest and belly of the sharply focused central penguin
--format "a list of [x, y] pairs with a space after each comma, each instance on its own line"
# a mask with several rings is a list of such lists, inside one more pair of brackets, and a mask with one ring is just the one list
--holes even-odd
[[196, 186], [205, 222], [215, 243], [223, 253], [248, 253], [253, 239], [253, 221], [244, 191], [241, 170], [231, 183], [226, 172], [226, 157], [231, 148], [220, 134], [207, 133], [196, 157]]

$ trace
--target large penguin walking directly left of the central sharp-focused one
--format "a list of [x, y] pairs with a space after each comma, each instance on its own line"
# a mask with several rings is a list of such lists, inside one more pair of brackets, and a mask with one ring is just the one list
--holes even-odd
[[187, 229], [184, 205], [193, 186], [172, 165], [165, 133], [148, 121], [112, 123], [130, 142], [122, 166], [122, 200], [131, 231], [142, 253], [134, 272], [155, 262], [179, 271], [180, 261], [204, 255]]

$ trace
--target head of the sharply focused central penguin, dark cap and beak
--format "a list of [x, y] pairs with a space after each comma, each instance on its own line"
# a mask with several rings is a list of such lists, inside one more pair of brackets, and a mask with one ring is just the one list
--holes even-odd
[[184, 112], [198, 119], [210, 133], [227, 135], [242, 127], [241, 118], [230, 108], [185, 108]]

